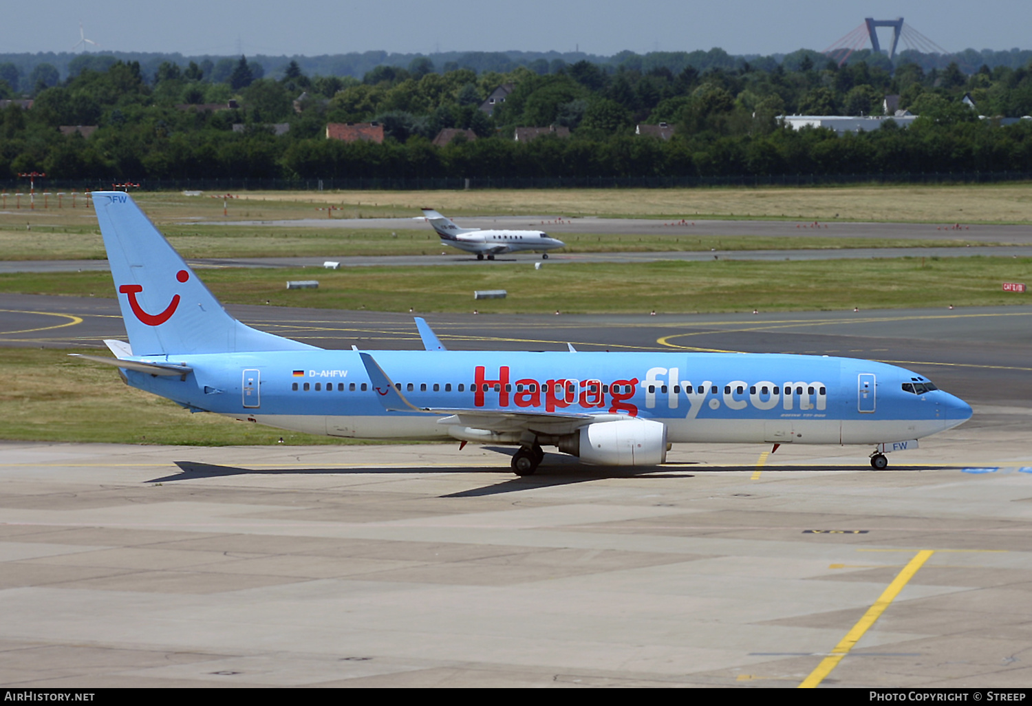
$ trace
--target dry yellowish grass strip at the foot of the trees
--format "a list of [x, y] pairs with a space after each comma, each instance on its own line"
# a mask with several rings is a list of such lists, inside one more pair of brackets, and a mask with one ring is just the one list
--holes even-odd
[[[476, 183], [476, 180], [475, 180]], [[909, 223], [1032, 222], [1028, 184], [921, 186], [909, 184], [842, 187], [722, 187], [699, 189], [473, 189], [471, 191], [240, 191], [228, 201], [208, 193], [141, 192], [134, 198], [157, 224], [188, 220], [282, 220], [411, 218], [421, 207], [449, 217], [562, 216], [577, 218], [762, 218], [801, 221], [880, 221]], [[59, 221], [96, 226], [84, 199], [61, 208], [21, 208], [8, 197], [0, 225], [23, 229], [28, 221]], [[332, 212], [317, 211], [334, 206]]]

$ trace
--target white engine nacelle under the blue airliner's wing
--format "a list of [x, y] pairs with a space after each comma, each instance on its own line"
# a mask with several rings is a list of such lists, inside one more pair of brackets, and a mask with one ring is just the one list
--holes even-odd
[[649, 419], [595, 422], [558, 439], [559, 451], [595, 466], [657, 466], [667, 460], [667, 425]]

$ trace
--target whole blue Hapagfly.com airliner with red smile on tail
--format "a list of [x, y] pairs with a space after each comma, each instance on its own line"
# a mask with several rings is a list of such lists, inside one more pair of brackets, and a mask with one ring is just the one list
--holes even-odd
[[[324, 350], [230, 317], [123, 192], [94, 192], [129, 343], [125, 381], [193, 412], [311, 434], [543, 445], [603, 466], [663, 463], [672, 443], [861, 444], [885, 451], [961, 424], [971, 408], [924, 377], [851, 358], [745, 353]], [[776, 448], [776, 447], [775, 447]]]

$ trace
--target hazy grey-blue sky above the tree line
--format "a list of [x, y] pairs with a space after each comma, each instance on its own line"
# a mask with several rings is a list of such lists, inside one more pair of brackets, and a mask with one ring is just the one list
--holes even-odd
[[[731, 54], [824, 50], [864, 22], [903, 17], [943, 49], [1032, 49], [1029, 0], [83, 0], [18, 2], [0, 19], [0, 53], [99, 51], [320, 55], [386, 50]], [[890, 30], [886, 32], [888, 37]], [[885, 43], [884, 41], [882, 43]], [[91, 47], [97, 51], [96, 47]]]

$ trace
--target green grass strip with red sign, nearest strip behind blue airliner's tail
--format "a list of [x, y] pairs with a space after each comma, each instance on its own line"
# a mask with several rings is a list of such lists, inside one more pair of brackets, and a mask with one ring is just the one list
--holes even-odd
[[[1032, 279], [1032, 258], [895, 258], [483, 266], [224, 268], [201, 278], [225, 303], [415, 313], [703, 313], [1023, 304], [1003, 282]], [[287, 290], [288, 280], [319, 289]], [[505, 299], [474, 301], [474, 290]], [[0, 275], [0, 291], [115, 296], [106, 272]]]

